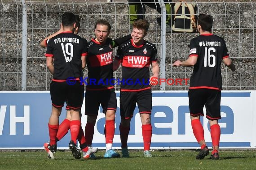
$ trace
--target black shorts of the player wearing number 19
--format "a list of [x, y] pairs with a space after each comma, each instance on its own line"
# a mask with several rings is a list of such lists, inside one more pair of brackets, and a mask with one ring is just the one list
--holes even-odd
[[52, 81], [50, 84], [50, 92], [52, 105], [55, 107], [63, 107], [64, 102], [67, 100], [67, 107], [70, 109], [80, 109], [83, 104], [84, 85], [80, 85], [76, 81], [75, 85], [68, 85], [65, 82]]

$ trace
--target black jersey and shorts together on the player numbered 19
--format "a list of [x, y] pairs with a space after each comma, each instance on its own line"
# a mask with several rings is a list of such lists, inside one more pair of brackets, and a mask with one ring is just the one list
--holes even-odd
[[71, 31], [62, 32], [47, 43], [45, 56], [54, 59], [50, 84], [53, 106], [62, 107], [67, 100], [67, 108], [81, 108], [84, 99], [84, 84], [79, 81], [83, 76], [81, 57], [87, 55], [87, 50], [87, 40]]

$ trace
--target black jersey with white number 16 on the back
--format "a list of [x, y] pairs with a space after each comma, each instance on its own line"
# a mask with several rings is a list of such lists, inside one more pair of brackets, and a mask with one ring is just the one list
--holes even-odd
[[190, 41], [190, 57], [198, 57], [190, 78], [190, 89], [221, 90], [221, 60], [229, 57], [223, 38], [201, 34]]

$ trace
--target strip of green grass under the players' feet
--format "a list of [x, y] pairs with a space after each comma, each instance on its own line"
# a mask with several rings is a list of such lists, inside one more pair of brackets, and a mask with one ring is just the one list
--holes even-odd
[[[120, 153], [120, 150], [117, 150]], [[97, 160], [76, 160], [70, 151], [57, 151], [55, 159], [48, 159], [43, 151], [0, 152], [0, 170], [252, 170], [256, 169], [256, 151], [221, 150], [220, 160], [196, 160], [197, 151], [165, 150], [152, 152], [153, 158], [144, 158], [143, 152], [130, 151], [130, 158], [103, 158], [104, 151], [96, 153]]]

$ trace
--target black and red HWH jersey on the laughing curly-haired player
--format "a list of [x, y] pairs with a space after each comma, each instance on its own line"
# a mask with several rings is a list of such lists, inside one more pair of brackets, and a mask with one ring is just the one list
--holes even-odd
[[149, 67], [152, 62], [157, 62], [156, 52], [155, 45], [145, 40], [140, 46], [131, 39], [118, 47], [115, 59], [122, 63], [121, 91], [151, 89]]

